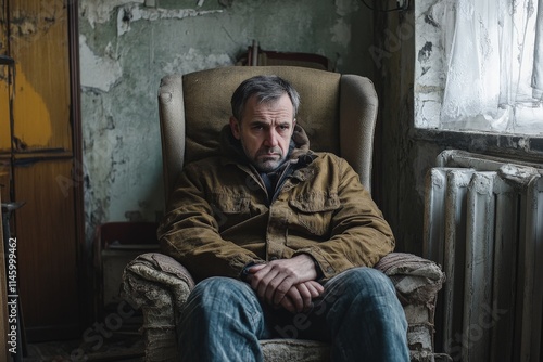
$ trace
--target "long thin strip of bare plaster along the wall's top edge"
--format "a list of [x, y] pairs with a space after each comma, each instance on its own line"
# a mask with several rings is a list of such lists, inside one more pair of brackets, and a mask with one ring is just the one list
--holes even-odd
[[185, 18], [192, 16], [202, 16], [214, 13], [222, 13], [223, 10], [194, 10], [194, 9], [153, 9], [141, 8], [139, 4], [129, 4], [118, 10], [117, 14], [117, 35], [130, 30], [130, 24], [136, 21], [157, 21], [166, 18]]

